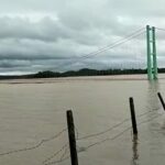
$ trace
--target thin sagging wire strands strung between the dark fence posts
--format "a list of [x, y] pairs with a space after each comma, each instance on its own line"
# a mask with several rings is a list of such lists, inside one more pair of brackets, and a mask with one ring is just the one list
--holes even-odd
[[[153, 114], [153, 112], [155, 112], [155, 110], [151, 110], [151, 111], [147, 111], [147, 112], [144, 112], [144, 113], [141, 113], [139, 116], [136, 116], [138, 118], [142, 118], [148, 113]], [[156, 118], [160, 118], [162, 117], [162, 114], [153, 114], [150, 119], [147, 120], [143, 120], [141, 121], [140, 123], [138, 123], [138, 125], [141, 125], [141, 124], [144, 124], [144, 123], [147, 123]], [[77, 139], [77, 142], [80, 141], [80, 140], [86, 140], [86, 139], [89, 139], [89, 138], [97, 138], [99, 135], [102, 135], [107, 132], [110, 132], [119, 127], [121, 127], [123, 123], [130, 121], [131, 118], [128, 118], [128, 119], [124, 119], [122, 122], [105, 130], [105, 131], [101, 131], [101, 132], [98, 132], [98, 133], [92, 133], [92, 134], [88, 134], [88, 135], [85, 135], [85, 136], [81, 136], [79, 138], [79, 133], [78, 133], [78, 129], [75, 127], [75, 131], [76, 131], [76, 139]], [[125, 132], [128, 132], [129, 130], [131, 130], [132, 127], [128, 127], [127, 129], [124, 129], [123, 131], [117, 133], [116, 135], [111, 136], [111, 138], [107, 138], [107, 139], [103, 139], [103, 140], [100, 140], [100, 141], [97, 141], [95, 143], [90, 143], [89, 145], [85, 146], [85, 151], [96, 146], [96, 145], [100, 145], [107, 141], [113, 141], [118, 138], [120, 138], [122, 134], [124, 134]], [[58, 132], [57, 134], [53, 135], [53, 136], [50, 136], [47, 139], [43, 139], [41, 140], [37, 144], [31, 146], [31, 147], [24, 147], [24, 148], [20, 148], [20, 150], [14, 150], [14, 151], [9, 151], [9, 152], [4, 152], [4, 153], [0, 153], [0, 156], [4, 156], [4, 155], [10, 155], [10, 154], [14, 154], [14, 153], [21, 153], [21, 152], [26, 152], [26, 151], [31, 151], [31, 150], [35, 150], [37, 147], [40, 147], [41, 145], [43, 145], [44, 143], [46, 142], [50, 142], [52, 140], [55, 140], [57, 138], [59, 138], [67, 129], [63, 129], [61, 132]], [[68, 152], [68, 148], [69, 148], [69, 143], [67, 142], [66, 144], [64, 144], [58, 151], [56, 151], [55, 153], [53, 153], [51, 156], [48, 156], [47, 158], [45, 158], [42, 164], [43, 165], [54, 165], [54, 164], [59, 164], [66, 160], [68, 160], [70, 157], [70, 155], [67, 155], [67, 152]], [[78, 152], [80, 153], [80, 152]], [[58, 160], [55, 160], [57, 158], [57, 156], [59, 156]], [[55, 161], [53, 161], [55, 160]]]

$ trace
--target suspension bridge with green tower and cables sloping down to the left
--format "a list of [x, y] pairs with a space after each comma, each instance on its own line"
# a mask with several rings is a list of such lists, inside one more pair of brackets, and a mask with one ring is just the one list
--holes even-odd
[[148, 80], [157, 79], [158, 68], [165, 63], [164, 36], [165, 29], [146, 25], [124, 37], [117, 36], [117, 42], [97, 51], [67, 58], [55, 69], [69, 69], [72, 66], [96, 68], [101, 63], [112, 69], [146, 69]]

